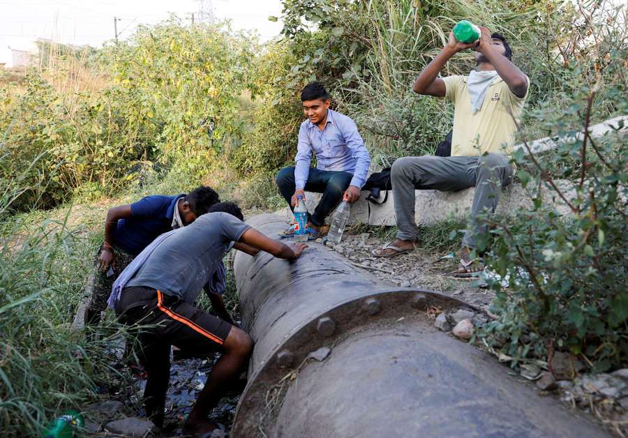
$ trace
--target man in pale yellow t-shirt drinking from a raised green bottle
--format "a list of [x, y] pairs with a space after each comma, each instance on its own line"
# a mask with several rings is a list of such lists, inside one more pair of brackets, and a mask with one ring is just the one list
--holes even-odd
[[[414, 91], [444, 97], [454, 103], [451, 156], [404, 157], [391, 169], [398, 232], [396, 239], [373, 251], [376, 257], [394, 257], [414, 250], [418, 238], [414, 223], [414, 189], [462, 190], [475, 186], [471, 224], [463, 238], [459, 275], [472, 275], [484, 266], [470, 259], [474, 235], [481, 227], [474, 218], [484, 209], [495, 211], [500, 190], [512, 181], [509, 155], [514, 144], [515, 117], [521, 114], [530, 80], [511, 63], [503, 36], [481, 27], [479, 40], [461, 43], [449, 33], [447, 45], [421, 72]], [[438, 77], [456, 52], [475, 49], [476, 69], [468, 76]]]

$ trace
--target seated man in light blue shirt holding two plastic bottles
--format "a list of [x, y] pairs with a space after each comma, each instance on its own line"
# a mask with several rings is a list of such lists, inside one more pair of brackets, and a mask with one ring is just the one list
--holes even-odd
[[[371, 158], [352, 119], [329, 110], [331, 100], [321, 82], [311, 82], [301, 91], [303, 112], [308, 120], [301, 123], [297, 145], [297, 165], [277, 174], [277, 186], [294, 211], [297, 196], [304, 190], [322, 193], [313, 214], [308, 213], [308, 233], [316, 236], [324, 218], [338, 202], [347, 197], [356, 202], [366, 181]], [[312, 152], [317, 166], [311, 168]], [[285, 236], [294, 234], [294, 227]]]

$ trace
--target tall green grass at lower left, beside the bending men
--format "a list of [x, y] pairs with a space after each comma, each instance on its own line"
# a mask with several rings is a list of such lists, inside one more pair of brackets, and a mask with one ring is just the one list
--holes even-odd
[[94, 353], [70, 331], [89, 245], [66, 220], [45, 220], [27, 232], [19, 220], [3, 226], [0, 430], [7, 437], [33, 436], [54, 414], [80, 409], [93, 394], [94, 362], [78, 358]]

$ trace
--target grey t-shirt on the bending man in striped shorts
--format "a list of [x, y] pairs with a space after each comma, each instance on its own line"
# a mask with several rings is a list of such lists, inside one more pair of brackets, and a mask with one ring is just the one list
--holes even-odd
[[154, 249], [126, 287], [152, 287], [193, 304], [232, 241], [250, 226], [229, 213], [207, 213]]

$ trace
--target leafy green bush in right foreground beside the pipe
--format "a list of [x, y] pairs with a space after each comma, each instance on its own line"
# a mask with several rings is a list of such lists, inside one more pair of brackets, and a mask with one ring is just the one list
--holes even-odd
[[615, 115], [626, 114], [625, 56], [613, 50], [606, 70], [611, 80], [583, 86], [562, 114], [532, 113], [559, 142], [544, 160], [523, 150], [514, 156], [537, 169], [518, 172], [534, 209], [484, 219], [491, 231], [479, 243], [490, 248], [488, 268], [497, 275], [488, 283], [500, 319], [484, 324], [479, 337], [505, 341], [503, 351], [517, 360], [551, 361], [553, 351], [568, 350], [597, 371], [628, 361], [628, 130], [619, 123], [601, 138], [588, 133], [598, 94]]

